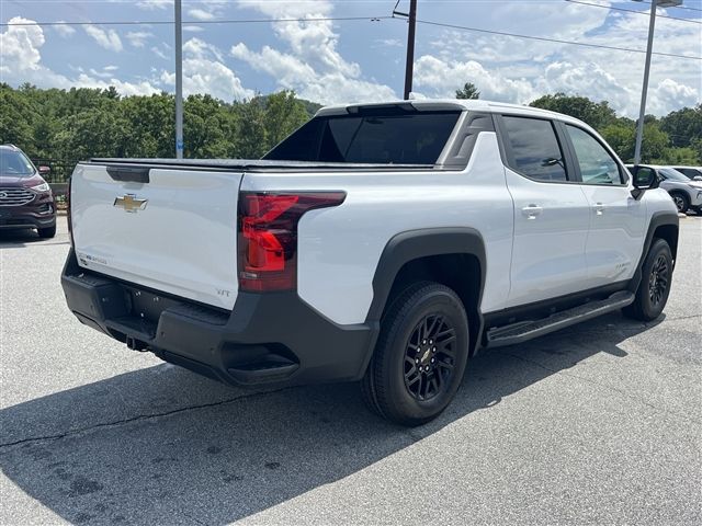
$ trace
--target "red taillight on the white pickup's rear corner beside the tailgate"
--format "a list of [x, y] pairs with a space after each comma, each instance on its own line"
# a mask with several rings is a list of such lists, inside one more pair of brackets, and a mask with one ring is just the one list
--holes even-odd
[[343, 192], [267, 194], [239, 199], [239, 288], [292, 290], [297, 286], [297, 222], [313, 208], [343, 203]]

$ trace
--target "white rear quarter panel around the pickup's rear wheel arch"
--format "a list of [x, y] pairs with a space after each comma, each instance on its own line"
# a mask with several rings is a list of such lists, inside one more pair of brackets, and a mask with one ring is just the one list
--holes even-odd
[[480, 134], [463, 171], [247, 173], [241, 190], [347, 193], [298, 226], [298, 295], [336, 323], [365, 321], [383, 249], [397, 233], [426, 228], [478, 230], [487, 255], [482, 310], [505, 306], [513, 207], [494, 133]]

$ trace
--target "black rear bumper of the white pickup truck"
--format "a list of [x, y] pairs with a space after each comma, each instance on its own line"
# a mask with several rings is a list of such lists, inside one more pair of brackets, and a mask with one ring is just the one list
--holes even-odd
[[239, 293], [226, 312], [88, 273], [72, 250], [61, 285], [82, 323], [234, 385], [356, 380], [377, 336], [376, 325], [331, 322], [296, 293]]

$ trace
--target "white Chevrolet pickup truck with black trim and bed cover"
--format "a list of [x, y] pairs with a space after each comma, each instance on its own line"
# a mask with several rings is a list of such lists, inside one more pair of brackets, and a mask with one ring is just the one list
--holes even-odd
[[405, 425], [480, 348], [660, 315], [678, 214], [584, 123], [486, 101], [326, 107], [262, 160], [93, 159], [78, 319], [235, 385], [362, 380]]

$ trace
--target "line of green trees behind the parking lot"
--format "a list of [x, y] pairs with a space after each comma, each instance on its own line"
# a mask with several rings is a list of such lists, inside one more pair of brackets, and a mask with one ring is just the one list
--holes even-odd
[[[457, 98], [475, 99], [471, 83]], [[91, 157], [174, 157], [174, 96], [121, 96], [109, 89], [12, 88], [0, 83], [0, 144], [14, 144], [33, 160], [78, 161]], [[618, 116], [607, 101], [564, 93], [532, 106], [573, 115], [596, 128], [624, 161], [634, 157], [635, 121]], [[321, 107], [292, 91], [225, 102], [190, 95], [183, 104], [186, 158], [256, 159]], [[643, 161], [702, 163], [702, 104], [664, 117], [647, 115]], [[65, 174], [61, 174], [65, 175]]]

